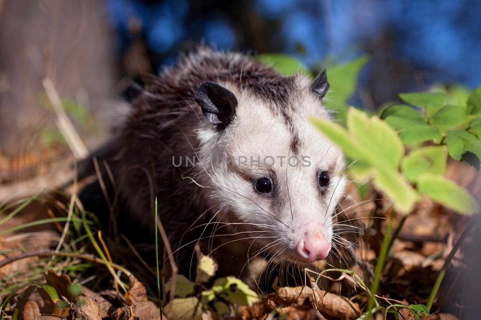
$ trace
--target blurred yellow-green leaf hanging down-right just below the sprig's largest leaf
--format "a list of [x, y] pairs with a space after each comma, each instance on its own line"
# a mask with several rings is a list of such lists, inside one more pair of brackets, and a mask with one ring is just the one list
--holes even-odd
[[416, 191], [399, 172], [377, 169], [374, 186], [382, 190], [393, 201], [394, 208], [401, 213], [409, 213], [418, 200]]

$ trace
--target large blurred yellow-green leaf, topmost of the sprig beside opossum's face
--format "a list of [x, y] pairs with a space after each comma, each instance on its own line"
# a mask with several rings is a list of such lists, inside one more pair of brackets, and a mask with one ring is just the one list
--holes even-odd
[[[385, 121], [378, 117], [368, 118], [366, 113], [350, 108], [347, 114], [347, 127], [373, 161], [397, 170], [404, 154], [404, 146], [396, 131]], [[374, 165], [373, 161], [370, 162]]]

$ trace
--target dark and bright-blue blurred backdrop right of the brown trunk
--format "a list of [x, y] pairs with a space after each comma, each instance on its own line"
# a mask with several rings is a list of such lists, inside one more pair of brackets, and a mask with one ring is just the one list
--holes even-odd
[[204, 42], [287, 53], [311, 69], [368, 54], [353, 101], [372, 110], [433, 83], [479, 85], [475, 0], [107, 0], [106, 10], [117, 58], [141, 41], [155, 72]]

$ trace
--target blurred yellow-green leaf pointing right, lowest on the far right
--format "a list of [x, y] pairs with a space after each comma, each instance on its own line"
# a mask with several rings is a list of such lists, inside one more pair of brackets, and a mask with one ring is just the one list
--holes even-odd
[[478, 203], [468, 191], [441, 175], [420, 174], [418, 191], [459, 213], [472, 214], [478, 210]]

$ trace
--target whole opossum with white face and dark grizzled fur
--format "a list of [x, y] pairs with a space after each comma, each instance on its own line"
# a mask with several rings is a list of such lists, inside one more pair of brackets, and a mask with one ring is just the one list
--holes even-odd
[[325, 70], [312, 81], [241, 53], [183, 55], [146, 80], [80, 200], [153, 244], [156, 199], [181, 273], [197, 244], [238, 277], [256, 254], [323, 260], [346, 184], [342, 152], [310, 121], [331, 118], [328, 89]]

